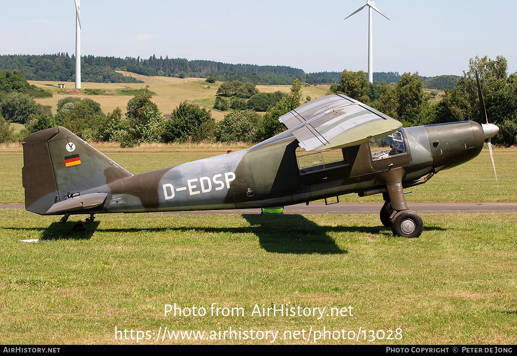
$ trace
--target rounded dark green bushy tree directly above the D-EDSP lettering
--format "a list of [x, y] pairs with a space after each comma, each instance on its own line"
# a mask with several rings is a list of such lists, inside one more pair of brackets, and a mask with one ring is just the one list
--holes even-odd
[[171, 120], [165, 124], [162, 135], [163, 141], [199, 140], [207, 136], [203, 133], [203, 130], [211, 126], [208, 122], [213, 122], [213, 126], [215, 126], [215, 120], [212, 118], [210, 111], [202, 109], [199, 105], [184, 101], [172, 111]]

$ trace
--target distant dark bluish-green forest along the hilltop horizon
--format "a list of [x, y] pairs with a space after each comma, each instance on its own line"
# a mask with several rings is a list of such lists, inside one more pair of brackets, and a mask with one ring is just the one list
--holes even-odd
[[[27, 80], [75, 81], [75, 57], [68, 53], [43, 55], [0, 55], [0, 70], [18, 70]], [[116, 72], [128, 71], [144, 76], [166, 76], [177, 78], [208, 78], [218, 81], [251, 82], [255, 85], [290, 85], [295, 79], [308, 84], [332, 84], [341, 80], [341, 72], [306, 73], [302, 69], [288, 66], [258, 66], [254, 64], [230, 64], [215, 61], [185, 58], [140, 57], [81, 57], [81, 79], [97, 83], [140, 83], [142, 81]], [[442, 78], [446, 77], [446, 78]], [[375, 72], [377, 84], [398, 83], [398, 72]], [[424, 87], [430, 89], [452, 89], [457, 76], [420, 77]]]

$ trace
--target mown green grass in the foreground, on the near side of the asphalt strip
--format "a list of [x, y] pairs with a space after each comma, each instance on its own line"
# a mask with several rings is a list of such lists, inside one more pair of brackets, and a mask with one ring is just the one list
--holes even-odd
[[[166, 326], [281, 336], [401, 329], [400, 340], [373, 343], [515, 344], [516, 217], [423, 215], [420, 238], [403, 239], [371, 215], [98, 215], [81, 234], [71, 221], [3, 210], [0, 342], [135, 344], [115, 340], [115, 327], [157, 333]], [[20, 242], [38, 238], [49, 241]], [[174, 303], [204, 306], [207, 316], [164, 317], [164, 305]], [[212, 303], [246, 314], [211, 316]], [[251, 316], [255, 304], [352, 306], [354, 316]], [[165, 343], [268, 344], [158, 342]], [[368, 343], [361, 334], [359, 344]]]

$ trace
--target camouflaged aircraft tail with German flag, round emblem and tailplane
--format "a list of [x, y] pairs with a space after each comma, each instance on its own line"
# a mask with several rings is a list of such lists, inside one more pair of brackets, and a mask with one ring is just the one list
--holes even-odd
[[25, 209], [37, 214], [100, 205], [106, 192], [82, 192], [133, 175], [64, 127], [32, 133], [22, 145]]

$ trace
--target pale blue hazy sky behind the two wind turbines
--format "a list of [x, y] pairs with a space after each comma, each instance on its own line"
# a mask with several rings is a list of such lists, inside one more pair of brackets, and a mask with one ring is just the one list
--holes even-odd
[[[81, 0], [81, 54], [368, 71], [366, 0]], [[378, 0], [373, 71], [462, 75], [469, 58], [517, 71], [517, 2]], [[0, 55], [75, 52], [73, 0], [2, 0]]]

